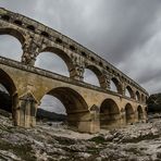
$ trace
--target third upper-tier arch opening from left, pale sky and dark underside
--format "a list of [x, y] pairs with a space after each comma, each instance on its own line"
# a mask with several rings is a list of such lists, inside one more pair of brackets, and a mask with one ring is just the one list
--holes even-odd
[[85, 69], [84, 82], [100, 87], [101, 76], [102, 73], [96, 66], [88, 65]]

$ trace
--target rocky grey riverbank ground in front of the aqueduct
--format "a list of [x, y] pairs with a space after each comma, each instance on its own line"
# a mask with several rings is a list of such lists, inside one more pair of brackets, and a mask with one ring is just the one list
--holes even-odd
[[160, 161], [161, 119], [99, 134], [79, 134], [63, 123], [39, 122], [35, 128], [12, 125], [0, 112], [0, 161]]

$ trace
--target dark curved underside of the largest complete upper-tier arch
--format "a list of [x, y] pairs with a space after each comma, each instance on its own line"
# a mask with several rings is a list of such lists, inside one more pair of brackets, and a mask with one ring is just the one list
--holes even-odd
[[[65, 63], [69, 72], [71, 72], [74, 69], [74, 65], [72, 63], [71, 58], [67, 55], [67, 53], [65, 53], [63, 50], [59, 49], [59, 48], [54, 48], [54, 47], [47, 47], [45, 49], [42, 49], [39, 54], [41, 54], [42, 52], [51, 52], [53, 54], [57, 54], [59, 58], [61, 58], [63, 60], [63, 62]], [[38, 55], [39, 55], [38, 54]], [[37, 55], [37, 57], [38, 57]], [[69, 74], [70, 75], [70, 74]]]

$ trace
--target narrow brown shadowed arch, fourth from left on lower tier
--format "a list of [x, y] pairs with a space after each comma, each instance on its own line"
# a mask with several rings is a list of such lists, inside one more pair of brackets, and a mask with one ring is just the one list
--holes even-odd
[[125, 121], [126, 121], [127, 124], [134, 122], [134, 113], [135, 112], [134, 112], [132, 104], [127, 103], [125, 106]]

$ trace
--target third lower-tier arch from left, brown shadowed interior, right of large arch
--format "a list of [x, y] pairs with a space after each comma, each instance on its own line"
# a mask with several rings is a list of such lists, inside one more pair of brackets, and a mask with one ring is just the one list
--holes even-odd
[[100, 106], [100, 126], [116, 126], [120, 120], [120, 109], [112, 99], [106, 99]]

